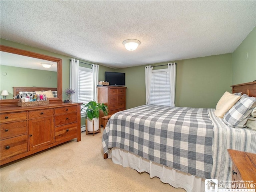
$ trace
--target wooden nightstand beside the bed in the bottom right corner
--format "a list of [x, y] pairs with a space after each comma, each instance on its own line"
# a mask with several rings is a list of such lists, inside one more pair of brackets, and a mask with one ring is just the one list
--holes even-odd
[[[246, 184], [256, 183], [256, 154], [228, 149], [232, 160], [232, 188], [242, 188]], [[243, 182], [253, 181], [253, 182]]]

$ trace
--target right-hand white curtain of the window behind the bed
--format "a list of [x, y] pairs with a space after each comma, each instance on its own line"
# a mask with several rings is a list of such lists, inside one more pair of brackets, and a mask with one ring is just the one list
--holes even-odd
[[168, 71], [170, 76], [170, 87], [171, 87], [171, 107], [174, 107], [175, 101], [175, 82], [176, 82], [176, 63], [168, 63]]

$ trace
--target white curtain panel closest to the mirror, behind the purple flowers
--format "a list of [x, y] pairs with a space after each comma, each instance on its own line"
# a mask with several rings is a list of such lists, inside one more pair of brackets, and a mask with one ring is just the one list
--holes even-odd
[[78, 102], [78, 72], [79, 60], [71, 59], [70, 61], [70, 78], [69, 88], [74, 89], [76, 92], [72, 94], [72, 101]]

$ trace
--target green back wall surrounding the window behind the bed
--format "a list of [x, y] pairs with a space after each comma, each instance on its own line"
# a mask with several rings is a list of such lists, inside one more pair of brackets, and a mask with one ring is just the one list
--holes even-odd
[[[177, 60], [175, 105], [215, 108], [225, 91], [231, 91], [232, 54]], [[152, 64], [152, 66], [168, 62]], [[154, 67], [154, 69], [167, 66]], [[126, 108], [146, 102], [145, 66], [116, 70], [126, 74]]]

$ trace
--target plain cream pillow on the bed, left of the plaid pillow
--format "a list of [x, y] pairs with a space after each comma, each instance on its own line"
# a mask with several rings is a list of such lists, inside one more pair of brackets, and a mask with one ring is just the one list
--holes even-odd
[[216, 105], [214, 114], [216, 117], [223, 118], [224, 114], [234, 106], [236, 102], [241, 98], [241, 96], [225, 92]]

